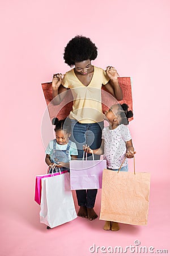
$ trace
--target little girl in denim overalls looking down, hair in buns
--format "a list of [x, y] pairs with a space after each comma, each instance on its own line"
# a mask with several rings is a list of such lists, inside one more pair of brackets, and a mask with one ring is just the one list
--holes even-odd
[[45, 162], [50, 168], [50, 173], [57, 171], [69, 171], [69, 162], [77, 158], [78, 151], [76, 144], [69, 140], [71, 135], [70, 119], [58, 120], [54, 118], [53, 125], [56, 125], [56, 139], [52, 139], [46, 148]]

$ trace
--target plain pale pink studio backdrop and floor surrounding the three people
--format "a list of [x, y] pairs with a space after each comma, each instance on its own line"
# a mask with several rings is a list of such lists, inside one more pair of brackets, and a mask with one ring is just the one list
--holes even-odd
[[[91, 255], [88, 248], [93, 243], [128, 246], [137, 239], [142, 246], [168, 249], [169, 1], [7, 0], [0, 6], [0, 254]], [[76, 218], [46, 230], [39, 222], [40, 208], [33, 196], [35, 176], [46, 170], [41, 82], [69, 70], [63, 48], [78, 34], [90, 37], [99, 49], [93, 64], [114, 65], [121, 76], [133, 77], [134, 121], [129, 128], [136, 168], [151, 172], [147, 227], [121, 225], [119, 232], [105, 232], [99, 219]]]

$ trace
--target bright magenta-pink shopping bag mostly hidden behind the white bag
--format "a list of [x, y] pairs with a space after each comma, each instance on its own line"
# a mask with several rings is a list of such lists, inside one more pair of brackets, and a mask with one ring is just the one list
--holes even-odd
[[41, 204], [41, 179], [44, 177], [52, 177], [56, 176], [59, 174], [65, 174], [67, 171], [62, 171], [62, 172], [54, 172], [52, 174], [42, 174], [42, 175], [37, 175], [36, 176], [36, 182], [35, 182], [35, 198], [34, 200], [36, 201], [37, 204]]

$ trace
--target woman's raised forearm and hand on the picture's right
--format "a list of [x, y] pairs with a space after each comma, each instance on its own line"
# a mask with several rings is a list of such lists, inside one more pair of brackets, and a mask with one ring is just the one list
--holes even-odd
[[120, 85], [118, 84], [116, 69], [113, 68], [113, 67], [107, 67], [106, 72], [107, 72], [107, 75], [108, 75], [110, 80], [105, 85], [105, 88], [118, 101], [122, 100], [123, 99], [123, 93], [122, 93], [122, 89], [120, 88]]

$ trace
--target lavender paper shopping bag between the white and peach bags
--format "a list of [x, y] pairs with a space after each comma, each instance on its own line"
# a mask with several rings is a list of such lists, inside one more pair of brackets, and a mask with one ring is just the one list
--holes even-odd
[[74, 189], [101, 188], [102, 173], [106, 160], [72, 160], [70, 161], [70, 187]]

